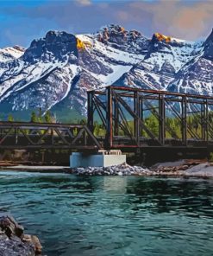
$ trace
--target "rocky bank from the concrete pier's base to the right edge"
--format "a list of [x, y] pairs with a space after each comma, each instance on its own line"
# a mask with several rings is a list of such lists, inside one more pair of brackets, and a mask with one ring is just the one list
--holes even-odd
[[213, 176], [213, 163], [204, 160], [180, 160], [157, 163], [149, 169], [127, 163], [110, 167], [88, 167], [68, 170], [78, 176]]

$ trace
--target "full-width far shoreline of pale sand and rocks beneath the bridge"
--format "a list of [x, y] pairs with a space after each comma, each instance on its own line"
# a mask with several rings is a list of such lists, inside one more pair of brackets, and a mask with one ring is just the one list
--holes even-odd
[[197, 176], [213, 177], [213, 163], [206, 159], [183, 159], [175, 162], [156, 163], [150, 168], [122, 163], [110, 167], [88, 167], [71, 169], [68, 166], [25, 165], [0, 162], [1, 170], [28, 172], [64, 172], [78, 176]]

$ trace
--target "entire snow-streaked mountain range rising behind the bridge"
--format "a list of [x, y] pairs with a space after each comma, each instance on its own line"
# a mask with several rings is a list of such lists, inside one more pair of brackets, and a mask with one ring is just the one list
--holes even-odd
[[71, 122], [85, 115], [86, 91], [104, 86], [211, 94], [212, 65], [213, 33], [187, 42], [118, 25], [86, 35], [49, 31], [25, 50], [0, 50], [0, 107], [3, 118], [29, 119], [41, 108]]

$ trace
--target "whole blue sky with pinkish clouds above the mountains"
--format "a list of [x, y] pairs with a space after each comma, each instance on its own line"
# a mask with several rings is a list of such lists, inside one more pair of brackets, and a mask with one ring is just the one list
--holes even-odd
[[0, 0], [0, 48], [27, 48], [49, 30], [95, 33], [112, 23], [196, 41], [210, 34], [212, 13], [213, 0]]

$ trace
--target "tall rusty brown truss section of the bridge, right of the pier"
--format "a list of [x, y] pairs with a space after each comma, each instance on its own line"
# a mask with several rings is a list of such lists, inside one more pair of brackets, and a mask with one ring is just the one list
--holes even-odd
[[213, 144], [212, 106], [209, 96], [109, 86], [88, 93], [88, 128], [101, 122], [109, 149], [205, 148]]

